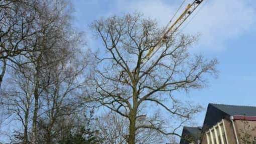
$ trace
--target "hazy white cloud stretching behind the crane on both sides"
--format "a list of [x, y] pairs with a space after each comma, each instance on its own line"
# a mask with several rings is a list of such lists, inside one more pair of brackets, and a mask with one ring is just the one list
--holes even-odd
[[[183, 32], [201, 34], [200, 50], [224, 50], [226, 41], [238, 38], [253, 29], [256, 12], [248, 2], [205, 0], [201, 8], [198, 8], [199, 11], [194, 13], [196, 16], [191, 16], [193, 19], [189, 25], [184, 24], [186, 28]], [[160, 25], [167, 24], [178, 7], [161, 0], [118, 1], [118, 12], [139, 11], [156, 19]]]

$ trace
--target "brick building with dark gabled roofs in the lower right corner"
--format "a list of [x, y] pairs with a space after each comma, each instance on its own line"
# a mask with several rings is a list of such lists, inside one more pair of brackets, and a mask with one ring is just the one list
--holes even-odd
[[202, 128], [184, 127], [180, 144], [256, 144], [256, 107], [210, 103]]

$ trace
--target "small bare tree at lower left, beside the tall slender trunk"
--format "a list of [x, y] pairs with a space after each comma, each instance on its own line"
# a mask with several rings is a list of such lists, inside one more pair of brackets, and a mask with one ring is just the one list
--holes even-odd
[[8, 115], [23, 125], [23, 132], [18, 135], [22, 135], [20, 138], [24, 143], [28, 143], [29, 121], [33, 105], [33, 84], [22, 74], [15, 73], [14, 76], [12, 80], [9, 80], [12, 85], [5, 91], [3, 104], [8, 110]]

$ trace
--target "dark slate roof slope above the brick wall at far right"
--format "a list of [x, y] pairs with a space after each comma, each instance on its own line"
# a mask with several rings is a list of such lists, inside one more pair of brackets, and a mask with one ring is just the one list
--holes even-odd
[[209, 103], [222, 112], [225, 112], [229, 116], [232, 115], [246, 115], [246, 116], [256, 116], [255, 106], [240, 106], [240, 105], [227, 105], [227, 104], [213, 104]]

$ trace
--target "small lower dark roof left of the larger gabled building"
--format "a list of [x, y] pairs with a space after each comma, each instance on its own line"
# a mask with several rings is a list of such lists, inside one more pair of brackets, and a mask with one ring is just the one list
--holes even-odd
[[201, 129], [202, 127], [184, 126], [180, 144], [189, 144], [192, 141], [196, 142], [198, 139], [200, 139]]

